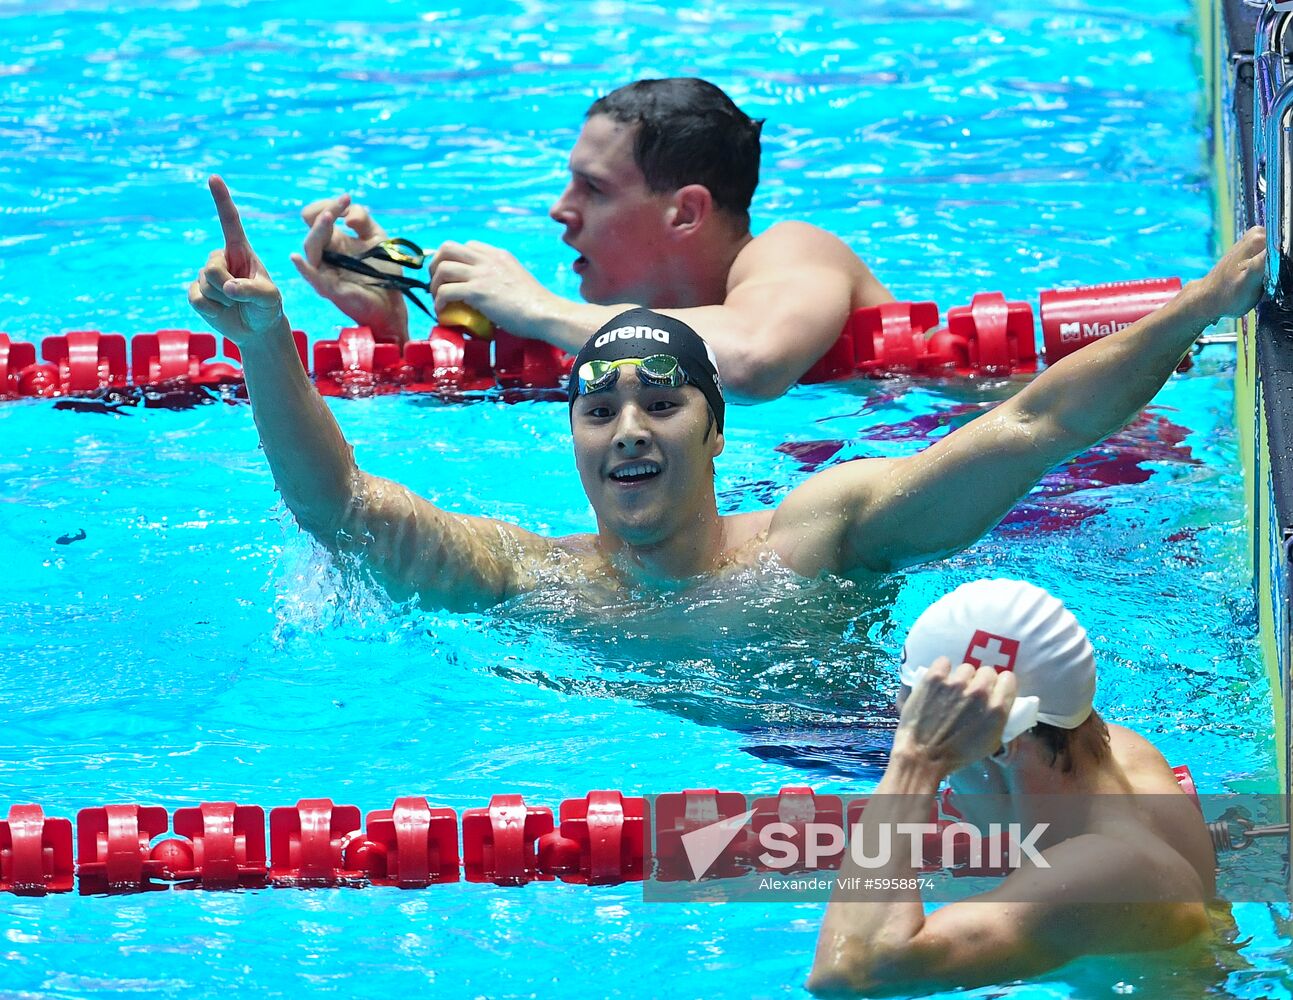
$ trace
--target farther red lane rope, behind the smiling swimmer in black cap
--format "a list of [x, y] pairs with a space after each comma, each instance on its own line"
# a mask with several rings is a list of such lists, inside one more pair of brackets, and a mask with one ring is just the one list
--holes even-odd
[[[1084, 344], [1107, 336], [1146, 316], [1181, 291], [1181, 281], [1116, 282], [1041, 292], [1045, 353], [1055, 362]], [[884, 303], [857, 309], [839, 339], [800, 382], [818, 383], [895, 374], [926, 376], [1001, 376], [1037, 370], [1033, 310], [1006, 301], [1001, 292], [975, 295], [968, 305], [948, 309], [940, 326], [932, 301]], [[494, 387], [556, 388], [572, 358], [551, 344], [495, 330], [490, 339], [459, 327], [436, 326], [429, 339], [401, 351], [380, 343], [367, 327], [345, 327], [308, 349], [295, 330], [301, 366], [326, 396], [375, 392], [478, 392]], [[213, 360], [216, 339], [189, 330], [140, 334], [129, 344], [119, 334], [80, 330], [48, 336], [40, 357], [32, 344], [0, 334], [0, 397], [52, 397], [124, 389], [129, 386], [217, 386], [238, 383], [238, 348], [224, 342], [228, 360]]]

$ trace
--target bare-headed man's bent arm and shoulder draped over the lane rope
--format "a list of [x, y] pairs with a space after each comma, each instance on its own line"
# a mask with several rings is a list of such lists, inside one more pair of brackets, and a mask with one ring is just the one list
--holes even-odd
[[443, 243], [432, 268], [437, 305], [465, 301], [503, 329], [572, 354], [625, 309], [658, 308], [705, 338], [724, 391], [747, 400], [784, 393], [835, 343], [853, 309], [893, 298], [843, 242], [804, 223], [782, 223], [746, 243], [723, 301], [694, 308], [562, 299], [486, 243]]

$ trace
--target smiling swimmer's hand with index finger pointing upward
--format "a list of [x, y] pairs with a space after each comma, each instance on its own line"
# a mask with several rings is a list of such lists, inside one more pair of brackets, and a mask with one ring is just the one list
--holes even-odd
[[220, 177], [211, 177], [209, 186], [225, 247], [207, 257], [189, 286], [189, 304], [217, 332], [240, 345], [283, 321], [283, 299], [251, 248], [229, 188]]

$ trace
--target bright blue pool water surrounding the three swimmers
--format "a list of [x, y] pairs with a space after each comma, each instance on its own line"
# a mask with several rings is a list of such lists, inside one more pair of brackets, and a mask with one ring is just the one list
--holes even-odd
[[[313, 336], [337, 318], [287, 255], [300, 206], [339, 190], [424, 245], [507, 246], [573, 295], [546, 210], [586, 105], [643, 75], [705, 75], [767, 116], [755, 228], [818, 223], [900, 296], [1036, 301], [1202, 273], [1191, 5], [1034, 8], [0, 4], [0, 329], [191, 326], [184, 287], [216, 246], [211, 171]], [[340, 586], [278, 507], [246, 406], [0, 404], [0, 809], [865, 792], [904, 629], [988, 573], [1036, 580], [1087, 622], [1107, 717], [1204, 790], [1268, 789], [1231, 367], [1210, 349], [944, 565], [875, 591], [768, 573], [736, 602], [643, 595], [591, 621], [543, 595], [451, 616]], [[733, 409], [720, 505], [919, 448], [1005, 391], [833, 386]], [[561, 405], [335, 411], [367, 470], [451, 510], [591, 525]], [[821, 907], [557, 884], [0, 897], [0, 997], [771, 996], [802, 995]], [[979, 995], [1288, 995], [1287, 911], [1237, 916], [1245, 943], [1201, 968], [1081, 962]]]

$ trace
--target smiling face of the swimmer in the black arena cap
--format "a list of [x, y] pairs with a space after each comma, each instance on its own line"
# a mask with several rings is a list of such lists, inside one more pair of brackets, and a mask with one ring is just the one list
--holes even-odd
[[614, 386], [574, 401], [570, 428], [600, 532], [654, 546], [712, 512], [723, 435], [694, 386], [646, 386], [625, 365]]

